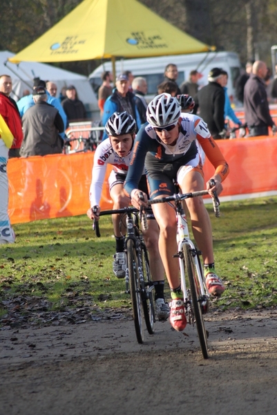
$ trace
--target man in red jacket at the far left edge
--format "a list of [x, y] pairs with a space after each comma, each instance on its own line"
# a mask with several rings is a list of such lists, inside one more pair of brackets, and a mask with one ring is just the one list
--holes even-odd
[[15, 137], [9, 151], [9, 158], [20, 157], [19, 150], [23, 140], [21, 118], [15, 100], [10, 98], [12, 79], [10, 75], [0, 75], [0, 114]]

